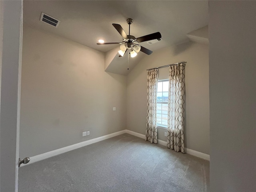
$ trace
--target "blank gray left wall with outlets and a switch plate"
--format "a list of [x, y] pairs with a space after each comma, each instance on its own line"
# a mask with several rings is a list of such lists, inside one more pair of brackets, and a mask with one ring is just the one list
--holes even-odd
[[104, 63], [102, 52], [24, 26], [21, 158], [126, 129], [126, 77]]

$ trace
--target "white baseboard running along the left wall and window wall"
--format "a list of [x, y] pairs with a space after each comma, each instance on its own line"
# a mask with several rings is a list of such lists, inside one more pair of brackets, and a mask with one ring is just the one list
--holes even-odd
[[[104, 135], [104, 136], [101, 136], [101, 137], [98, 137], [98, 138], [90, 139], [90, 140], [87, 140], [87, 141], [84, 141], [84, 142], [80, 142], [80, 143], [77, 143], [77, 144], [74, 144], [74, 145], [66, 146], [66, 147], [63, 147], [63, 148], [60, 148], [60, 149], [56, 149], [56, 150], [53, 150], [53, 151], [49, 151], [49, 152], [46, 152], [46, 153], [43, 153], [43, 154], [40, 154], [40, 155], [30, 157], [29, 164], [34, 163], [34, 162], [38, 162], [38, 161], [41, 161], [41, 160], [44, 160], [44, 159], [62, 154], [62, 153], [66, 153], [68, 151], [78, 149], [80, 147], [84, 147], [84, 146], [87, 146], [87, 145], [90, 145], [90, 144], [93, 144], [93, 143], [96, 143], [96, 142], [100, 142], [100, 141], [103, 141], [103, 140], [106, 140], [106, 139], [109, 139], [109, 138], [112, 138], [112, 137], [115, 137], [115, 136], [118, 136], [118, 135], [121, 135], [121, 134], [124, 134], [124, 133], [128, 133], [130, 135], [134, 135], [136, 137], [145, 139], [144, 134], [140, 134], [140, 133], [137, 133], [137, 132], [126, 129], [126, 130], [118, 131], [118, 132], [115, 132], [115, 133], [112, 133], [112, 134]], [[167, 142], [158, 139], [158, 144], [166, 146]], [[201, 153], [201, 152], [198, 152], [198, 151], [195, 151], [195, 150], [192, 150], [192, 149], [188, 149], [188, 148], [185, 148], [185, 153], [210, 161], [210, 155], [208, 155], [208, 154], [204, 154], [204, 153]], [[25, 165], [27, 165], [27, 164], [21, 164], [20, 166], [25, 166]]]

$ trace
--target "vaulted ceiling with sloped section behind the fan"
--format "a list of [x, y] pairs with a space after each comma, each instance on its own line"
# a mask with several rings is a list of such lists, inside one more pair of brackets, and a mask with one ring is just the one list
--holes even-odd
[[[58, 20], [58, 28], [40, 21], [44, 12]], [[127, 18], [132, 18], [130, 34], [137, 37], [160, 32], [162, 41], [154, 44], [140, 43], [153, 51], [189, 41], [186, 34], [208, 25], [208, 1], [161, 1], [161, 0], [24, 0], [24, 25], [51, 32], [95, 50], [111, 54], [112, 65], [107, 71], [128, 74], [128, 57], [118, 58], [119, 45], [97, 45], [97, 40], [122, 42], [122, 37], [112, 26], [120, 24], [129, 33]], [[147, 56], [139, 52], [129, 60], [130, 69]]]

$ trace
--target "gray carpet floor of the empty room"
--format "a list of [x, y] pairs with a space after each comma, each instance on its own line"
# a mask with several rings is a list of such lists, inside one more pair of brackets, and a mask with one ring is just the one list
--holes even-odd
[[208, 192], [209, 161], [122, 134], [19, 169], [19, 192]]

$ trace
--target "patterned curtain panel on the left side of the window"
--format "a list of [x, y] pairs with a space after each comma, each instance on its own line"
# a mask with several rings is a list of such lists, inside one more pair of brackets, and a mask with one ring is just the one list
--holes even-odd
[[148, 70], [148, 110], [146, 122], [146, 141], [157, 144], [156, 126], [156, 95], [157, 95], [158, 69]]

